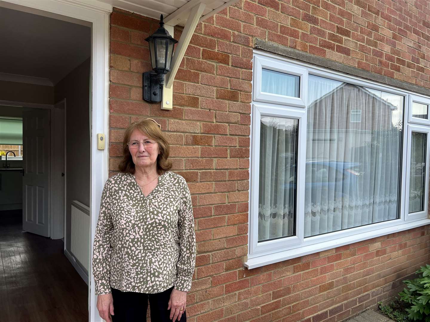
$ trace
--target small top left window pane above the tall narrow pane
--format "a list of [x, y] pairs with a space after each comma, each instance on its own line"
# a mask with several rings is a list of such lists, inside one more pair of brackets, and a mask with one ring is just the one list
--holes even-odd
[[296, 75], [277, 72], [276, 70], [262, 69], [261, 91], [283, 96], [299, 97], [300, 77]]

